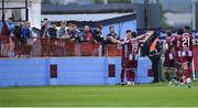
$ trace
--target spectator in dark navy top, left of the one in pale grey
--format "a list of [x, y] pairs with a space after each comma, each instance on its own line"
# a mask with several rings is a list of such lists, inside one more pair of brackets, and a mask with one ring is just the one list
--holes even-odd
[[48, 28], [48, 35], [50, 39], [57, 39], [57, 29], [55, 23], [52, 23], [52, 26]]

